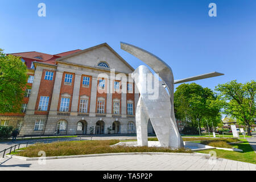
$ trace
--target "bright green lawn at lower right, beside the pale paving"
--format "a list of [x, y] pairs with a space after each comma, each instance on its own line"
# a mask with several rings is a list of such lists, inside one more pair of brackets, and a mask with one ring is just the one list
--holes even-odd
[[217, 149], [203, 150], [203, 151], [197, 151], [197, 152], [209, 154], [210, 151], [215, 151], [217, 154], [217, 158], [238, 160], [241, 162], [256, 164], [255, 151], [253, 150], [253, 148], [251, 148], [250, 144], [247, 142], [246, 139], [241, 139], [241, 140], [243, 141], [243, 143], [232, 144], [232, 146], [243, 150], [242, 152], [217, 150]]

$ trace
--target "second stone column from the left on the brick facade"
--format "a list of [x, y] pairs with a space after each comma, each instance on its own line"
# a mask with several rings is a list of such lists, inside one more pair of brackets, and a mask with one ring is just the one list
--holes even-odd
[[63, 71], [62, 72], [57, 71], [53, 92], [52, 92], [52, 101], [51, 101], [51, 107], [49, 110], [49, 115], [57, 115], [57, 107], [58, 107], [59, 98], [60, 98], [60, 87], [61, 87], [62, 77], [63, 77]]

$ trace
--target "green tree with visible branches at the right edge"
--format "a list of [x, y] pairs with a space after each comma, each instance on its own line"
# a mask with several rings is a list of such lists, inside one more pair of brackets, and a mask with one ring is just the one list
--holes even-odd
[[256, 82], [238, 83], [236, 80], [219, 84], [216, 90], [220, 92], [220, 98], [226, 102], [224, 113], [237, 118], [238, 123], [245, 125], [250, 133], [250, 127], [256, 118], [255, 98], [256, 98]]

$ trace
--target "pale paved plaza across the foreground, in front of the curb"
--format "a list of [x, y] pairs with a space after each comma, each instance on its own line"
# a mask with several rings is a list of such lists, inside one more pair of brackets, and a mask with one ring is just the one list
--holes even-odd
[[64, 170], [64, 171], [210, 171], [246, 170], [256, 171], [256, 164], [228, 159], [209, 159], [207, 156], [189, 155], [115, 155], [86, 158], [49, 159], [46, 164], [38, 160], [26, 161], [14, 158], [0, 158], [0, 171], [5, 170]]

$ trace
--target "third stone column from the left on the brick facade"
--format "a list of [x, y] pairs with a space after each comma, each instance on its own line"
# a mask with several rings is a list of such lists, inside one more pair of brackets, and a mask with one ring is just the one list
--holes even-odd
[[77, 108], [79, 105], [78, 102], [79, 102], [80, 84], [81, 84], [81, 74], [76, 73], [70, 115], [77, 115]]

